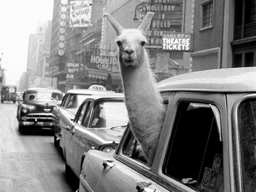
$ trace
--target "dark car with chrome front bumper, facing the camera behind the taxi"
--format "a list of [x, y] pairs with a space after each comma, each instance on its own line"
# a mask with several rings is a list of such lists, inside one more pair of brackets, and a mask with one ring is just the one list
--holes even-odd
[[62, 92], [48, 88], [28, 88], [17, 108], [19, 130], [52, 128], [52, 109], [60, 105]]

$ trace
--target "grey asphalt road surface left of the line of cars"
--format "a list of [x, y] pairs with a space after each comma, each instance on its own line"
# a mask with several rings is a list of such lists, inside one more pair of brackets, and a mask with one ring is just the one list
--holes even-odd
[[53, 132], [21, 134], [17, 104], [0, 104], [0, 192], [74, 192], [77, 181], [66, 181], [65, 161]]

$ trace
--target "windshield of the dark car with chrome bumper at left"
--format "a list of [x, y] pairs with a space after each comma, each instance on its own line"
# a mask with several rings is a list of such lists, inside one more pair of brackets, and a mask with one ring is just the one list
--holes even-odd
[[61, 101], [62, 94], [56, 92], [44, 92], [44, 91], [35, 91], [29, 92], [25, 97], [26, 101], [36, 100], [36, 101]]

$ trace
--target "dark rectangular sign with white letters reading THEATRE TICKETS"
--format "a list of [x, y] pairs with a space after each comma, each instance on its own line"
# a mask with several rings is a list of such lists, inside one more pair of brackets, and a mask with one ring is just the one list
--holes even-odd
[[191, 52], [190, 33], [167, 33], [163, 34], [163, 50]]

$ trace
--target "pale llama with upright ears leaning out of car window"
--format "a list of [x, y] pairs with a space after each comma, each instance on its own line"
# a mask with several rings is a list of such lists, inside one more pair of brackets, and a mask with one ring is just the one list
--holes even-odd
[[109, 13], [104, 15], [117, 33], [115, 42], [119, 46], [119, 65], [131, 130], [149, 164], [154, 159], [165, 117], [163, 99], [156, 89], [144, 49], [147, 43], [145, 31], [153, 15], [148, 12], [137, 29], [124, 29]]

